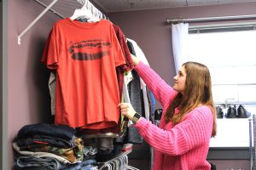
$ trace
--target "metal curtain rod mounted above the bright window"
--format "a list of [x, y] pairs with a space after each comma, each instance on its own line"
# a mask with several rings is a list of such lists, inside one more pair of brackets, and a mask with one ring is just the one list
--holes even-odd
[[194, 19], [166, 19], [166, 24], [178, 23], [178, 22], [219, 22], [230, 20], [256, 20], [256, 14], [252, 15], [237, 15], [237, 16], [221, 16], [221, 17], [208, 17], [208, 18], [194, 18]]

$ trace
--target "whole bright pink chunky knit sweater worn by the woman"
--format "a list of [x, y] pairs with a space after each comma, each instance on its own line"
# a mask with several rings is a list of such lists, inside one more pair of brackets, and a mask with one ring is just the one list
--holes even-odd
[[163, 106], [160, 127], [144, 118], [135, 125], [143, 139], [154, 148], [154, 170], [211, 169], [207, 162], [213, 126], [210, 108], [205, 105], [196, 107], [176, 126], [172, 122], [166, 123], [163, 119], [166, 108], [177, 91], [143, 62], [139, 62], [135, 70]]

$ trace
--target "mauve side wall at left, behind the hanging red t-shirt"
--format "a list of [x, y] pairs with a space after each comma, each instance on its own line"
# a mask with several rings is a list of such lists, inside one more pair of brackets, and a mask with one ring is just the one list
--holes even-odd
[[2, 169], [11, 169], [14, 164], [11, 144], [20, 127], [37, 122], [52, 122], [49, 112], [49, 72], [40, 63], [44, 42], [51, 26], [59, 17], [47, 13], [27, 31], [18, 45], [17, 36], [40, 14], [44, 8], [34, 1], [6, 1], [7, 5], [7, 65], [5, 139], [7, 161]]

